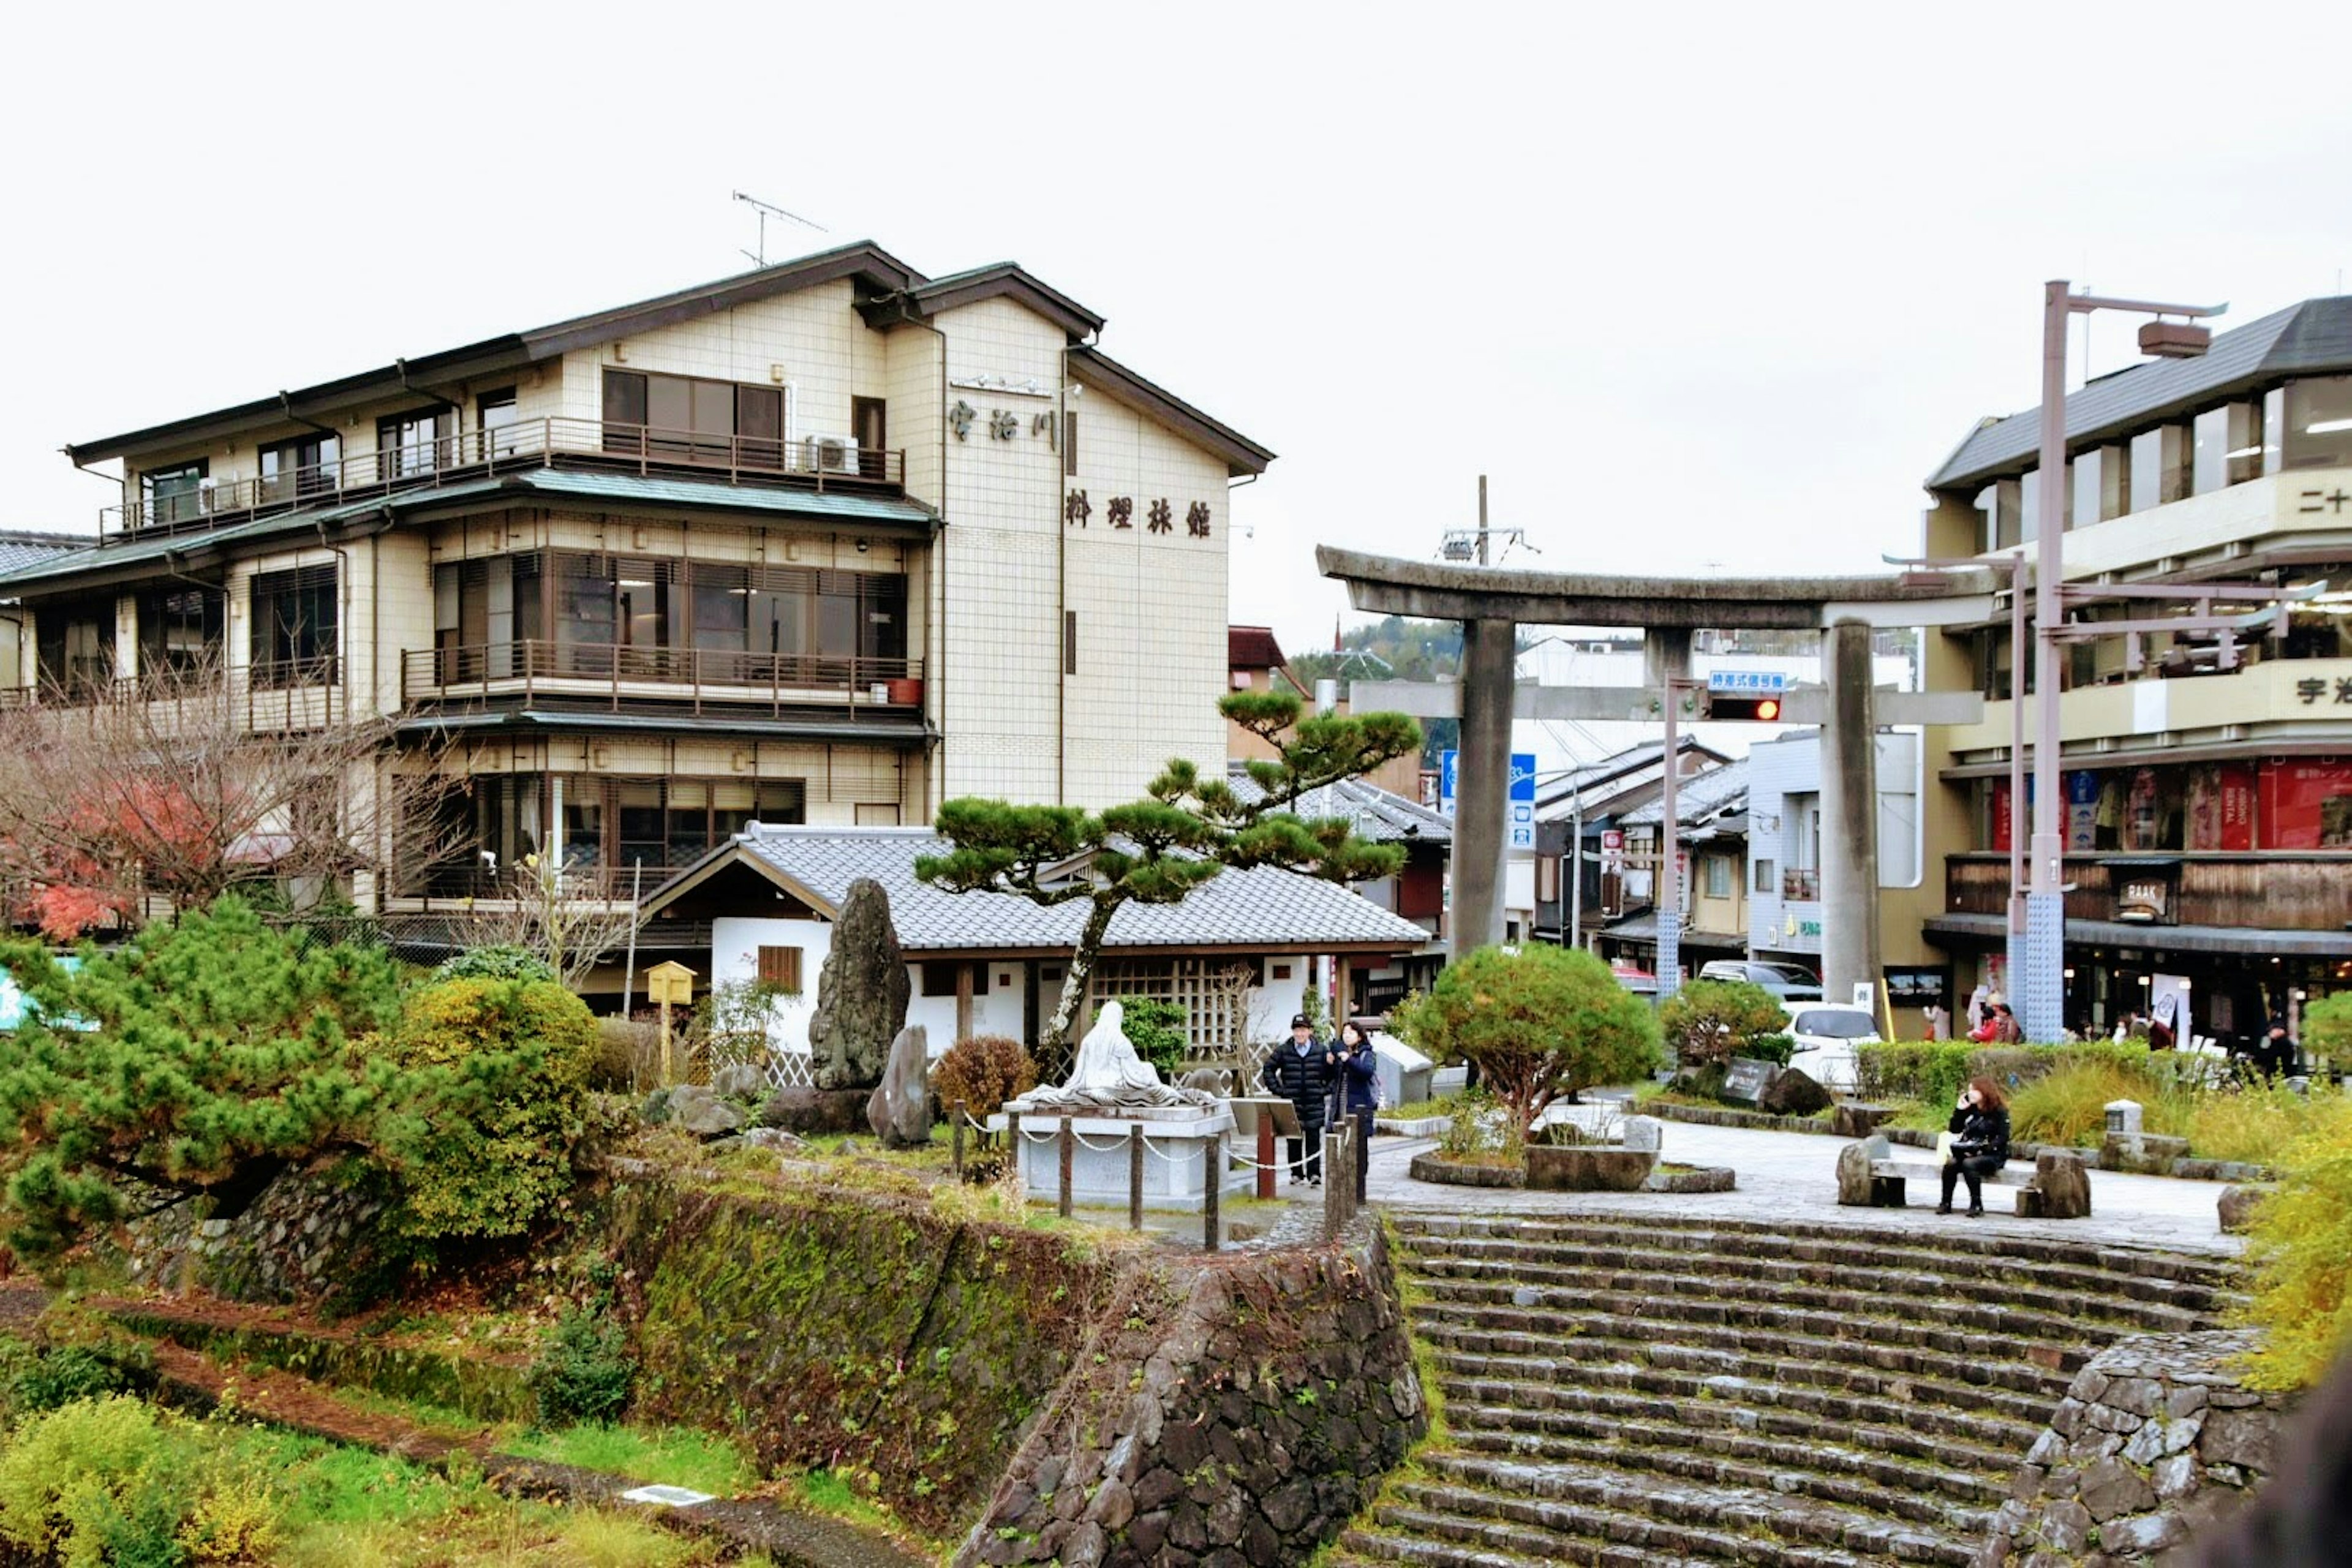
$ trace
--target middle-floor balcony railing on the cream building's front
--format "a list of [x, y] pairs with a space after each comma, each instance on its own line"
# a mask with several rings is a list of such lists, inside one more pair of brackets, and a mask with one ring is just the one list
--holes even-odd
[[400, 656], [402, 703], [597, 703], [614, 712], [661, 705], [842, 708], [906, 715], [922, 708], [920, 658], [743, 654], [734, 649], [637, 649], [602, 642], [489, 642], [409, 649]]

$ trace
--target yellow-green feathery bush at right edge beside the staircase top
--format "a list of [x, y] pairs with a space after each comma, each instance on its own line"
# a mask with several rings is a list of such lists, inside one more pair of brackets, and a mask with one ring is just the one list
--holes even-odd
[[2249, 1382], [2305, 1389], [2352, 1349], [2352, 1103], [2279, 1154], [2279, 1190], [2253, 1211], [2249, 1319], [2265, 1331]]

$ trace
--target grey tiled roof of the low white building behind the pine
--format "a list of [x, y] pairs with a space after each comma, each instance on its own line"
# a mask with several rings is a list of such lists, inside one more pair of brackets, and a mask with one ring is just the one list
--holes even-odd
[[[1068, 952], [1087, 922], [1084, 903], [1040, 910], [1011, 893], [943, 893], [915, 882], [915, 856], [946, 853], [929, 827], [769, 827], [755, 823], [713, 858], [757, 858], [804, 889], [823, 912], [873, 877], [889, 893], [898, 943], [910, 952]], [[708, 860], [706, 860], [708, 865]], [[696, 875], [689, 867], [680, 875]], [[1430, 936], [1350, 889], [1275, 867], [1228, 870], [1176, 905], [1124, 905], [1105, 950], [1258, 947], [1319, 952], [1324, 945], [1421, 947]]]

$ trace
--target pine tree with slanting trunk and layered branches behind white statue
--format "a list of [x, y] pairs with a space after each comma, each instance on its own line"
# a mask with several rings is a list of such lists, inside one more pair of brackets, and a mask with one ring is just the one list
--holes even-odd
[[1103, 811], [1014, 806], [960, 797], [938, 809], [953, 849], [915, 860], [915, 875], [950, 893], [1011, 893], [1040, 907], [1087, 905], [1087, 924], [1063, 969], [1061, 1001], [1037, 1041], [1040, 1063], [1061, 1063], [1087, 976], [1127, 903], [1171, 905], [1225, 867], [1279, 865], [1329, 882], [1395, 877], [1404, 851], [1355, 835], [1348, 818], [1310, 820], [1291, 806], [1312, 790], [1357, 778], [1421, 748], [1402, 712], [1303, 715], [1287, 691], [1235, 691], [1218, 710], [1268, 741], [1275, 759], [1247, 762], [1258, 799], [1171, 759], [1145, 799]]

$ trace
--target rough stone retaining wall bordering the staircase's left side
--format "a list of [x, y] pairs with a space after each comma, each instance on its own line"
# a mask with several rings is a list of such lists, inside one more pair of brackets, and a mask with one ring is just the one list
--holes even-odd
[[1080, 1356], [957, 1568], [1303, 1563], [1428, 1429], [1376, 1225], [1169, 1293]]

